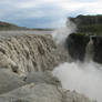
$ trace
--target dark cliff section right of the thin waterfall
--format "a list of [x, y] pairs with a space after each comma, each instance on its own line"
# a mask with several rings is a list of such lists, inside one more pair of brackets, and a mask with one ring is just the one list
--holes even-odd
[[102, 37], [93, 37], [93, 60], [102, 63]]

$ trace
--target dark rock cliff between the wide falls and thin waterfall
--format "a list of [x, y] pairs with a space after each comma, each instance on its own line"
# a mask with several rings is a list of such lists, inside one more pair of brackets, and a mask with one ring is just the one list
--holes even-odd
[[69, 54], [73, 60], [84, 60], [85, 48], [90, 41], [90, 38], [79, 33], [71, 33], [67, 39], [67, 47]]

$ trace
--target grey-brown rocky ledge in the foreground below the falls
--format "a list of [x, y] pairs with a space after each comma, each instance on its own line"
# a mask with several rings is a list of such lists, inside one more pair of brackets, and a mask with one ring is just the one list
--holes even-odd
[[0, 70], [0, 102], [93, 102], [75, 91], [64, 90], [50, 71], [26, 78]]

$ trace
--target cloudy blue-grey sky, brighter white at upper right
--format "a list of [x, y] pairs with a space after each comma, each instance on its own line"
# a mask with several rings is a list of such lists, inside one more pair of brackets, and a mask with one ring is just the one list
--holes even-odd
[[102, 14], [102, 0], [1, 0], [0, 21], [28, 28], [61, 28], [68, 17]]

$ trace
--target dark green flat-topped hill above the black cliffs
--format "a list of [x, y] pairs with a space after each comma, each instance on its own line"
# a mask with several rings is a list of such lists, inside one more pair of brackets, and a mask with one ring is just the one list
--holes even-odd
[[102, 33], [102, 14], [78, 16], [70, 20], [76, 24], [78, 32]]

